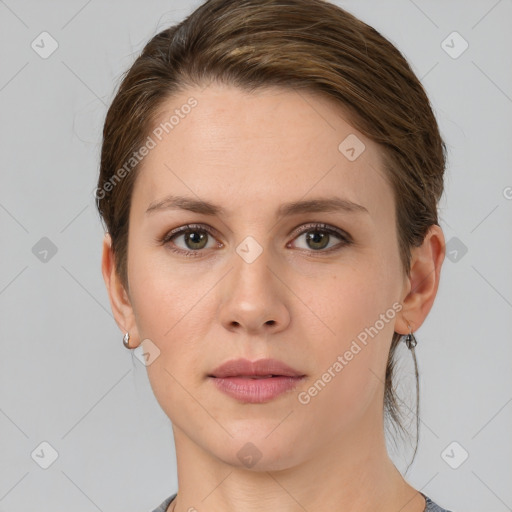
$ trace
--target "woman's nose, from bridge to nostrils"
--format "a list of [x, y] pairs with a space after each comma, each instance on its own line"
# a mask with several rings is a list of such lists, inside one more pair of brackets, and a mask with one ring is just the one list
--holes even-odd
[[233, 267], [223, 279], [220, 321], [230, 332], [277, 333], [290, 323], [290, 292], [269, 251], [252, 262], [233, 254]]

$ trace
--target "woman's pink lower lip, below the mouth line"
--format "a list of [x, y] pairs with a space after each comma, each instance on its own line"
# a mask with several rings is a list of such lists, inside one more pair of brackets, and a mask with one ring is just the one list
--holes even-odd
[[294, 389], [304, 377], [268, 377], [249, 379], [243, 377], [212, 377], [219, 391], [240, 402], [261, 404]]

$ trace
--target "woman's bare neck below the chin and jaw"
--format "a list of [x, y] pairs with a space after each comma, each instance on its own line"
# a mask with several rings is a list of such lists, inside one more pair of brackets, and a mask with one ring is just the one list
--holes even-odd
[[[364, 424], [351, 435], [341, 432], [319, 442], [314, 455], [301, 457], [300, 463], [282, 468], [277, 459], [274, 464], [262, 459], [252, 469], [212, 455], [173, 425], [178, 496], [170, 510], [423, 512], [423, 496], [389, 458], [383, 428], [377, 432], [375, 419]], [[220, 453], [224, 449], [219, 447]]]

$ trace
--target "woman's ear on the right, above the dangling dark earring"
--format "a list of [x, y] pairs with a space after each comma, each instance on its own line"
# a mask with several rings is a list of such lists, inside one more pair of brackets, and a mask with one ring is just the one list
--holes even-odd
[[415, 332], [424, 322], [434, 304], [445, 252], [443, 230], [434, 224], [430, 226], [421, 246], [411, 251], [411, 270], [405, 280], [403, 309], [397, 318], [395, 332]]

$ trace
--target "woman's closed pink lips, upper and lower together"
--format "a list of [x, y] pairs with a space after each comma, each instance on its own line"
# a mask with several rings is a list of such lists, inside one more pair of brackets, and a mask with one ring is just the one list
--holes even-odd
[[277, 359], [233, 359], [208, 377], [219, 391], [240, 402], [265, 403], [294, 389], [305, 375]]

